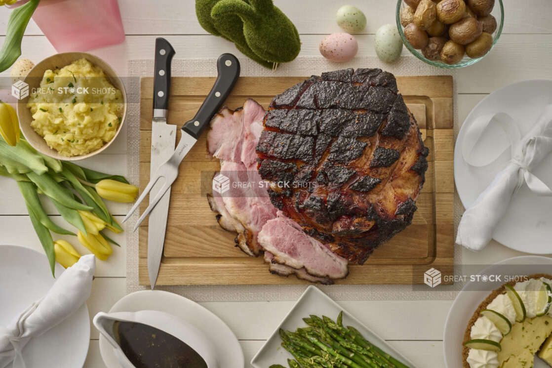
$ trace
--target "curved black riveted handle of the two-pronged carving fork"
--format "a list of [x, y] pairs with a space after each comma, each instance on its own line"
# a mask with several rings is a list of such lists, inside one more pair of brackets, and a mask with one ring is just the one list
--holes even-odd
[[195, 117], [182, 127], [183, 132], [192, 135], [195, 139], [199, 139], [213, 115], [219, 112], [222, 103], [232, 92], [232, 88], [240, 76], [240, 62], [232, 54], [222, 54], [216, 61], [216, 70], [219, 72], [219, 76], [216, 78], [211, 92], [205, 98]]

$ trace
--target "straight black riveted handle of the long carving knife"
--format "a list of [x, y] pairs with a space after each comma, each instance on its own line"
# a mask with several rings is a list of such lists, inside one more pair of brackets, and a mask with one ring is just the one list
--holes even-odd
[[153, 111], [167, 110], [171, 91], [173, 47], [164, 38], [155, 39], [155, 74], [153, 75]]

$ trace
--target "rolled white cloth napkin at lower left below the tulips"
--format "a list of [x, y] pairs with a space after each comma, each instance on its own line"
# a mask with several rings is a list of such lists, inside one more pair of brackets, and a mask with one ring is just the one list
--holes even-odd
[[24, 368], [21, 351], [33, 337], [60, 324], [86, 302], [92, 291], [95, 257], [87, 254], [56, 280], [46, 295], [32, 303], [6, 327], [0, 327], [0, 368], [13, 360]]

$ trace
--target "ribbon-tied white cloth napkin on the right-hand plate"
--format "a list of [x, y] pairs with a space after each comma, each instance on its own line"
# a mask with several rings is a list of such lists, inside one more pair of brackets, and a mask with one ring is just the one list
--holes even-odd
[[[481, 250], [489, 244], [509, 202], [524, 183], [538, 196], [552, 196], [550, 188], [531, 172], [552, 150], [552, 104], [544, 108], [537, 122], [521, 139], [516, 123], [505, 113], [483, 115], [474, 120], [462, 146], [464, 160], [472, 166], [481, 167], [491, 163], [475, 163], [469, 157], [477, 139], [491, 121], [498, 123], [508, 135], [512, 160], [462, 215], [456, 243], [470, 250]], [[502, 152], [492, 161], [500, 154]]]

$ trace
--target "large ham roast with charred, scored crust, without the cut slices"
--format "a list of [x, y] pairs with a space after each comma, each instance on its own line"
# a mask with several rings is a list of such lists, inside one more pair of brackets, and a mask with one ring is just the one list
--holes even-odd
[[313, 76], [274, 97], [263, 125], [258, 172], [277, 219], [358, 264], [412, 222], [428, 149], [391, 73]]

